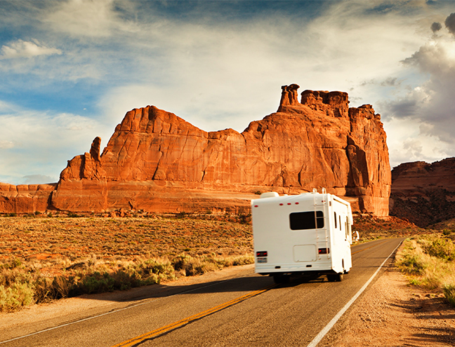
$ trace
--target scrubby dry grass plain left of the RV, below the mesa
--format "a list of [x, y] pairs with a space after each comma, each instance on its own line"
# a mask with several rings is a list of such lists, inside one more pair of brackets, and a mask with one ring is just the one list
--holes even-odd
[[242, 217], [0, 217], [0, 311], [251, 264], [252, 249]]

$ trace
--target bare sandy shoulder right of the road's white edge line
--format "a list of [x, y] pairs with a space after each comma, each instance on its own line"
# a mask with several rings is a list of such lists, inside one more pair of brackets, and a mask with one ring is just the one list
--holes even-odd
[[408, 283], [385, 268], [318, 346], [455, 346], [455, 307]]

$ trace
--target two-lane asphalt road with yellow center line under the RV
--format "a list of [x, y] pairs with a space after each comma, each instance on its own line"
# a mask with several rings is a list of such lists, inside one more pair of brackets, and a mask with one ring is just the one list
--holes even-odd
[[329, 283], [325, 276], [310, 282], [296, 277], [276, 286], [272, 278], [249, 270], [228, 280], [151, 286], [143, 297], [119, 302], [108, 311], [35, 322], [8, 332], [0, 327], [0, 347], [308, 346], [400, 241], [353, 246], [352, 269], [342, 282]]

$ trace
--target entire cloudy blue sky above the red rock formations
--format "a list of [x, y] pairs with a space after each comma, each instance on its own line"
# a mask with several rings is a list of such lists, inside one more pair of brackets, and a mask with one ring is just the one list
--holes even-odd
[[0, 0], [0, 182], [57, 182], [154, 105], [242, 132], [281, 86], [381, 114], [391, 168], [455, 156], [455, 1]]

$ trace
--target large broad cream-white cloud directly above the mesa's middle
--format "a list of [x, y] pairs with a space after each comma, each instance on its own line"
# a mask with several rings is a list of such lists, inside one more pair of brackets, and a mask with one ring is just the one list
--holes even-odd
[[[350, 91], [366, 80], [400, 85], [400, 60], [423, 43], [415, 18], [360, 15], [372, 5], [351, 5], [329, 6], [298, 25], [276, 14], [235, 25], [140, 23], [128, 46], [142, 74], [108, 90], [100, 108], [118, 119], [154, 104], [204, 130], [242, 131], [277, 109], [284, 84], [298, 83], [300, 91]], [[378, 89], [356, 88], [350, 99], [374, 104]]]

